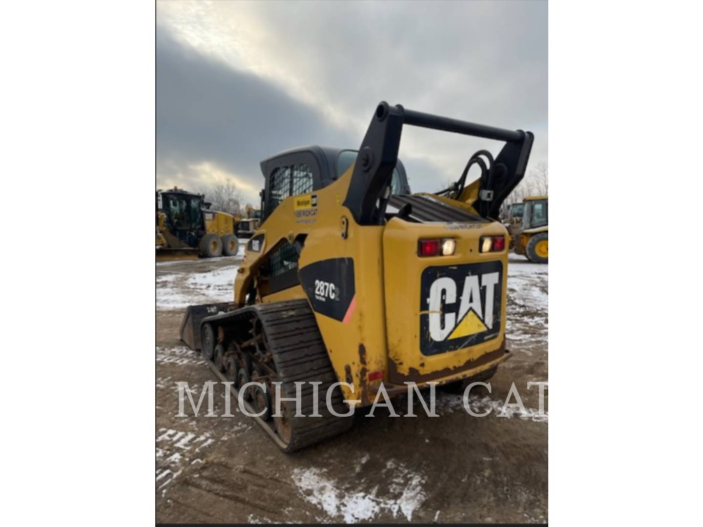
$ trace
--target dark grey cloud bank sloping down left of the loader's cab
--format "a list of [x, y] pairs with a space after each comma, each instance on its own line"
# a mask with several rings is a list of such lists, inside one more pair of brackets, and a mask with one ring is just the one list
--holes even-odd
[[188, 49], [163, 28], [156, 60], [159, 183], [198, 186], [197, 167], [214, 163], [259, 188], [259, 161], [280, 150], [321, 139], [353, 144], [353, 134], [330, 126], [314, 109], [253, 74]]

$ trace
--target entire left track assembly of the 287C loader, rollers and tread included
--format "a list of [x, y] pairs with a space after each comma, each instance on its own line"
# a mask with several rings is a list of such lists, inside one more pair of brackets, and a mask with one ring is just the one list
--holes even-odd
[[[246, 306], [205, 318], [203, 322], [203, 349], [209, 338], [205, 330], [208, 324], [213, 326], [213, 335], [219, 334], [221, 339], [224, 335], [220, 344], [230, 350], [225, 362], [228, 378], [234, 375], [235, 368], [230, 358], [235, 356], [239, 389], [252, 379], [265, 384], [266, 393], [254, 386], [247, 389], [243, 398], [259, 412], [268, 409], [256, 419], [262, 427], [269, 427], [269, 435], [278, 448], [293, 452], [343, 434], [352, 426], [353, 415], [337, 417], [326, 407], [327, 390], [337, 382], [337, 375], [306, 299]], [[280, 416], [273, 415], [276, 413], [276, 391], [272, 383], [281, 383], [281, 396], [295, 398], [295, 382], [301, 381], [304, 382], [301, 410], [306, 417], [295, 417], [295, 401], [282, 401]], [[321, 383], [318, 385], [318, 414], [321, 417], [309, 417], [314, 405], [311, 382]], [[333, 392], [332, 403], [337, 413], [349, 412], [338, 386]]]

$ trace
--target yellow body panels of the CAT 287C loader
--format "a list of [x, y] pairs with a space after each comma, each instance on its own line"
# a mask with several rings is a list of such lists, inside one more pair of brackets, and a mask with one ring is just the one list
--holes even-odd
[[[368, 405], [381, 382], [389, 392], [406, 391], [406, 381], [418, 385], [451, 382], [503, 362], [507, 358], [504, 313], [508, 256], [506, 250], [481, 254], [479, 240], [483, 236], [505, 236], [505, 228], [497, 221], [432, 224], [397, 218], [385, 226], [360, 226], [342, 204], [353, 169], [352, 165], [330, 186], [288, 197], [278, 204], [247, 245], [235, 281], [236, 304], [245, 304], [252, 281], [257, 282], [257, 301], [307, 298], [301, 285], [270, 294], [258, 273], [271, 249], [307, 235], [298, 262], [301, 270], [328, 259], [354, 261], [356, 294], [348, 316], [340, 321], [315, 314], [337, 379], [354, 386], [352, 391], [342, 385], [345, 398]], [[316, 207], [311, 205], [313, 195]], [[470, 209], [463, 202], [448, 202]], [[312, 211], [314, 215], [302, 214]], [[453, 256], [418, 256], [418, 240], [423, 238], [451, 238], [456, 240], [456, 251]], [[250, 250], [252, 243], [259, 244], [258, 251]], [[427, 315], [420, 311], [423, 271], [428, 266], [484, 261], [496, 261], [502, 266], [497, 333], [479, 344], [425, 356], [420, 349], [420, 317]], [[370, 374], [373, 380], [369, 379]]]

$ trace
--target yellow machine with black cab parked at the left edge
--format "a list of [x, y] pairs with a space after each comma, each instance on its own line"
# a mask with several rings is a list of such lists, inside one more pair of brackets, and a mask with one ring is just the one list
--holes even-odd
[[235, 256], [233, 216], [212, 211], [202, 194], [174, 187], [156, 191], [156, 259]]

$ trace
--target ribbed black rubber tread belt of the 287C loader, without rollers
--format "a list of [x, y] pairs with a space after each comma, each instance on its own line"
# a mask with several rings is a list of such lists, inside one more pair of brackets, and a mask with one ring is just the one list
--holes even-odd
[[[318, 413], [322, 417], [291, 417], [291, 440], [285, 452], [300, 450], [347, 431], [354, 418], [337, 417], [327, 410], [325, 396], [328, 387], [337, 382], [337, 375], [308, 301], [256, 304], [241, 311], [254, 311], [261, 320], [273, 364], [282, 382], [282, 395], [295, 397], [295, 382], [305, 383], [301, 391], [304, 415], [310, 415], [313, 408], [313, 387], [308, 383], [322, 382], [318, 386]], [[348, 411], [347, 405], [342, 404], [339, 387], [332, 401], [338, 413]], [[295, 415], [295, 401], [283, 404], [288, 405], [288, 415]]]

